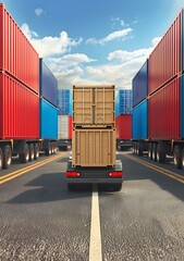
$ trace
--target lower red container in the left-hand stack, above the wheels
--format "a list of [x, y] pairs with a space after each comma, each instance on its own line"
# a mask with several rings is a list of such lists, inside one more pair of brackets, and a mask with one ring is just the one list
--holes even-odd
[[39, 97], [0, 73], [0, 139], [39, 138]]

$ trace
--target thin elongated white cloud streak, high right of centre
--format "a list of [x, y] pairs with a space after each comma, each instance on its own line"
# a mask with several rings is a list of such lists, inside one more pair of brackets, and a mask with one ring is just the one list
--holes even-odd
[[91, 44], [91, 45], [105, 45], [109, 41], [113, 41], [115, 39], [125, 39], [125, 37], [132, 32], [132, 28], [125, 28], [122, 30], [115, 30], [111, 34], [109, 34], [107, 37], [102, 39], [96, 39], [96, 38], [89, 38], [86, 40], [86, 44]]

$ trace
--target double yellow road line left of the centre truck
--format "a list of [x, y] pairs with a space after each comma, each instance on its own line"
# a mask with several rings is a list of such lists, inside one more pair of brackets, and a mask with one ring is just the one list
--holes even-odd
[[9, 182], [9, 181], [11, 181], [11, 179], [13, 179], [13, 178], [15, 178], [15, 177], [19, 177], [19, 176], [21, 176], [21, 175], [23, 175], [23, 174], [25, 174], [25, 173], [27, 173], [27, 172], [29, 172], [29, 171], [33, 171], [33, 170], [35, 170], [35, 169], [38, 169], [39, 166], [42, 166], [42, 165], [45, 165], [45, 164], [48, 164], [48, 163], [50, 163], [51, 161], [58, 160], [58, 159], [60, 159], [60, 158], [62, 158], [62, 157], [63, 157], [63, 153], [62, 153], [62, 154], [57, 154], [57, 156], [54, 156], [54, 157], [51, 157], [50, 159], [46, 159], [46, 160], [44, 160], [44, 161], [41, 161], [41, 162], [35, 163], [35, 164], [33, 164], [33, 165], [23, 167], [22, 170], [19, 170], [19, 171], [12, 172], [12, 173], [10, 173], [10, 174], [7, 174], [7, 175], [4, 175], [4, 176], [1, 176], [1, 177], [0, 177], [0, 184], [7, 183], [7, 182]]

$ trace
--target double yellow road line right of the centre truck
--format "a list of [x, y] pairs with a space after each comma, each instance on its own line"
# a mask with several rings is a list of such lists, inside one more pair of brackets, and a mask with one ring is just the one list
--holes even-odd
[[139, 164], [142, 164], [142, 165], [145, 165], [145, 166], [147, 166], [147, 167], [149, 167], [149, 169], [151, 169], [151, 170], [155, 170], [155, 171], [157, 171], [157, 172], [160, 172], [161, 174], [163, 174], [163, 175], [165, 175], [165, 176], [169, 176], [169, 177], [171, 177], [171, 178], [173, 178], [173, 179], [175, 179], [175, 181], [184, 184], [184, 176], [182, 176], [182, 175], [180, 175], [180, 174], [177, 174], [177, 173], [174, 173], [174, 172], [168, 171], [168, 170], [165, 170], [165, 169], [163, 169], [163, 167], [160, 167], [160, 166], [154, 165], [154, 164], [151, 164], [151, 163], [145, 162], [144, 160], [136, 159], [136, 158], [134, 158], [134, 157], [132, 157], [132, 156], [127, 156], [127, 154], [125, 156], [125, 154], [124, 154], [124, 157], [126, 157], [126, 158], [128, 158], [128, 159], [131, 159], [131, 160], [133, 160], [133, 161], [136, 161], [136, 162], [138, 162]]

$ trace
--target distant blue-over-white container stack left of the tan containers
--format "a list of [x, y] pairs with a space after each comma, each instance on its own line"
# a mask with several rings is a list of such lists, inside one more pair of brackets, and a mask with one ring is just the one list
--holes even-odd
[[72, 94], [70, 89], [58, 90], [58, 139], [72, 139]]

